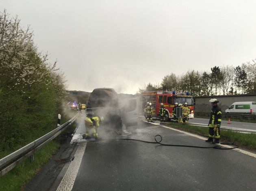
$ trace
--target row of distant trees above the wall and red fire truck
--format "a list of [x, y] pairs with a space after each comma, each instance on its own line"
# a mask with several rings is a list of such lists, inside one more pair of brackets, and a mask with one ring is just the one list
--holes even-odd
[[241, 66], [214, 66], [211, 72], [188, 71], [181, 76], [175, 73], [164, 76], [161, 84], [148, 83], [143, 91], [181, 91], [192, 96], [217, 96], [256, 93], [256, 59]]

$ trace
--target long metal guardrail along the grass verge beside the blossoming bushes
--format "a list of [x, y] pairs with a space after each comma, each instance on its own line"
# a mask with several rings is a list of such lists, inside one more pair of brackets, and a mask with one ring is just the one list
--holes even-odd
[[53, 140], [56, 136], [61, 134], [61, 132], [63, 132], [67, 127], [69, 127], [76, 120], [78, 115], [79, 115], [79, 112], [72, 119], [70, 119], [63, 125], [57, 127], [56, 129], [52, 130], [48, 134], [31, 142], [30, 144], [27, 144], [21, 149], [15, 151], [14, 153], [11, 153], [10, 155], [7, 155], [6, 157], [0, 159], [0, 177], [6, 174], [7, 172], [9, 172], [10, 170], [12, 170], [19, 163], [26, 160], [28, 157], [30, 157], [30, 159], [33, 159], [34, 157], [33, 154], [35, 152], [37, 152], [44, 145], [46, 145], [48, 142]]

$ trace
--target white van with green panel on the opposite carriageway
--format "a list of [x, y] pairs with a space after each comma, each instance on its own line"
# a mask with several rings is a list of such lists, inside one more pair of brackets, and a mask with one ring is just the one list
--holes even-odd
[[226, 113], [256, 113], [256, 102], [234, 102]]

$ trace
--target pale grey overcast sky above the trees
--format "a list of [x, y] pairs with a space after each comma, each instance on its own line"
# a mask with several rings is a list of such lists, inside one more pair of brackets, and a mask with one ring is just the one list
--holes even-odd
[[68, 90], [135, 94], [164, 76], [256, 58], [256, 0], [1, 0]]

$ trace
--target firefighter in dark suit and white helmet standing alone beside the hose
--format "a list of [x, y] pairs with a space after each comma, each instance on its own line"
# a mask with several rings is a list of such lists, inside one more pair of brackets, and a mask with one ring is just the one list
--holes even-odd
[[[209, 138], [206, 142], [212, 142], [213, 144], [219, 143], [220, 138], [220, 126], [221, 126], [221, 108], [219, 108], [219, 101], [217, 99], [210, 99], [209, 102], [212, 105], [210, 111], [210, 121], [208, 124], [209, 127]], [[213, 138], [215, 139], [213, 141]]]

